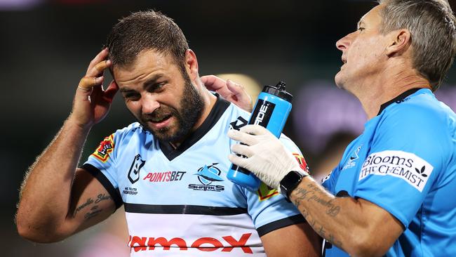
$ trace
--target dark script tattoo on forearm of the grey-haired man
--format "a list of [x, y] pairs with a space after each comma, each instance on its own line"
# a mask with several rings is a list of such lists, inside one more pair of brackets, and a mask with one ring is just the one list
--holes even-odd
[[318, 221], [310, 215], [310, 213], [304, 208], [304, 202], [316, 202], [320, 204], [326, 208], [326, 214], [332, 218], [339, 214], [340, 206], [333, 204], [332, 199], [327, 199], [328, 197], [325, 192], [315, 185], [307, 185], [307, 188], [298, 187], [293, 195], [295, 195], [295, 197], [293, 197], [293, 203], [297, 209], [301, 211], [302, 216], [304, 216], [307, 220], [307, 223], [314, 228], [315, 232], [331, 244], [342, 248], [342, 242], [337, 240], [333, 234], [326, 230], [323, 224], [318, 223]]

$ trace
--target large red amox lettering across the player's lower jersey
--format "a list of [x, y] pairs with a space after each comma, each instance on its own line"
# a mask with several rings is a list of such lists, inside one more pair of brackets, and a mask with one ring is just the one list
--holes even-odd
[[[171, 251], [175, 251], [177, 249], [180, 251], [187, 251], [190, 247], [191, 249], [198, 249], [199, 251], [217, 251], [218, 249], [221, 249], [220, 252], [222, 253], [239, 250], [242, 250], [243, 253], [253, 253], [252, 249], [250, 249], [249, 246], [246, 246], [250, 235], [252, 235], [252, 233], [243, 234], [240, 239], [235, 239], [232, 236], [225, 236], [219, 239], [213, 237], [201, 237], [196, 239], [194, 242], [190, 242], [191, 244], [181, 237], [174, 237], [168, 240], [165, 237], [130, 236], [128, 238], [128, 246], [130, 246], [132, 251], [135, 252], [156, 251], [155, 247], [157, 246], [159, 249], [166, 251], [169, 251], [171, 248], [173, 249]], [[222, 242], [228, 243], [229, 246], [224, 246]]]

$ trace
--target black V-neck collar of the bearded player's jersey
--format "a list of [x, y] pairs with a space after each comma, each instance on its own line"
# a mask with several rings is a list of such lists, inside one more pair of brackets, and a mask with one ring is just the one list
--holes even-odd
[[182, 152], [185, 152], [187, 149], [189, 149], [189, 147], [198, 142], [201, 138], [203, 138], [204, 135], [206, 135], [206, 133], [208, 133], [208, 131], [210, 131], [210, 129], [213, 128], [220, 117], [222, 117], [224, 111], [227, 110], [230, 103], [227, 100], [222, 99], [220, 95], [215, 95], [217, 96], [217, 101], [215, 102], [212, 110], [210, 110], [208, 117], [206, 117], [206, 119], [203, 121], [203, 124], [201, 124], [201, 126], [199, 126], [196, 131], [191, 133], [184, 140], [184, 142], [179, 145], [179, 147], [174, 149], [168, 142], [159, 141], [161, 152], [165, 154], [168, 160], [172, 161], [175, 157], [178, 157], [180, 154], [182, 154]]

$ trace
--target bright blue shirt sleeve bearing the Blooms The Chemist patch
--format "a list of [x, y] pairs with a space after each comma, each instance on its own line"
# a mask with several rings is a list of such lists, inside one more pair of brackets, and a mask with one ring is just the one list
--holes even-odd
[[354, 197], [395, 216], [405, 228], [444, 169], [448, 126], [438, 113], [397, 105], [380, 119]]

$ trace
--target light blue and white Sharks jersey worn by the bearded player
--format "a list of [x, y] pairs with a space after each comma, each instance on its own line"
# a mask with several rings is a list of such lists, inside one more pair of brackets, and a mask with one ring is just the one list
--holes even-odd
[[[138, 123], [105, 138], [83, 169], [125, 204], [131, 256], [265, 256], [260, 237], [304, 218], [262, 184], [257, 192], [227, 180], [229, 129], [250, 116], [220, 98], [180, 147]], [[286, 136], [283, 143], [302, 155]]]

